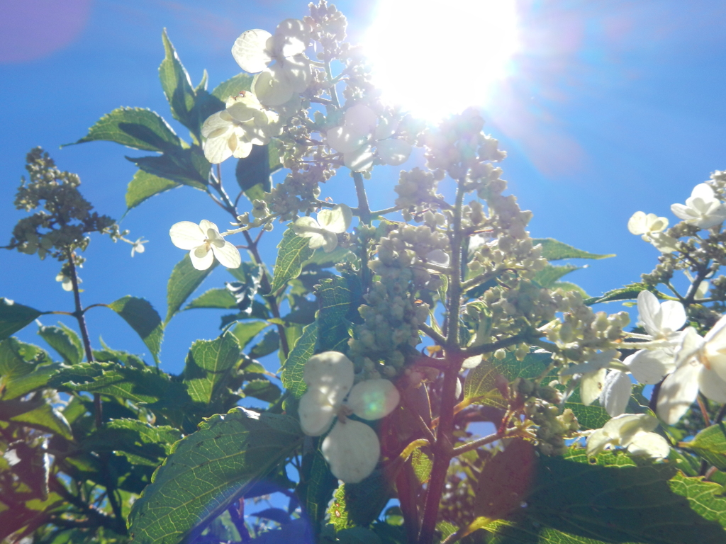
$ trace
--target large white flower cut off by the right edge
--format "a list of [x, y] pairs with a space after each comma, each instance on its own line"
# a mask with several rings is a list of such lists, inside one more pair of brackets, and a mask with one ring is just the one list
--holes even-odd
[[699, 391], [717, 403], [726, 403], [726, 316], [703, 338], [688, 327], [675, 366], [658, 392], [656, 411], [667, 424], [675, 424], [688, 411]]

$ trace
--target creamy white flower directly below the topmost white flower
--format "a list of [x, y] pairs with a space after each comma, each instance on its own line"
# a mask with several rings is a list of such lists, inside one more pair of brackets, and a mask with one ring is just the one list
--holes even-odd
[[213, 164], [232, 156], [248, 157], [253, 145], [266, 145], [279, 133], [277, 114], [264, 110], [254, 94], [242, 91], [230, 96], [226, 105], [202, 125], [204, 156]]

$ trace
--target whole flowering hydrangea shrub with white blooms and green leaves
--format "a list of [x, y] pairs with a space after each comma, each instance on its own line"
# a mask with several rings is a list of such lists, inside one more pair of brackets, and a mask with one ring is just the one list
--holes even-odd
[[[210, 93], [206, 78], [192, 87], [165, 33], [162, 84], [191, 141], [155, 112], [120, 108], [78, 142], [158, 153], [134, 159], [129, 207], [187, 185], [232, 224], [171, 226], [189, 253], [163, 321], [138, 297], [83, 307], [89, 236], [129, 243], [132, 257], [146, 241], [91, 213], [78, 176], [28, 154], [15, 205], [32, 215], [5, 248], [57, 258], [73, 311], [0, 299], [0, 537], [723, 542], [726, 173], [672, 206], [674, 226], [636, 212], [627, 228], [661, 252], [656, 268], [589, 297], [559, 281], [572, 267], [552, 263], [607, 255], [530, 236], [480, 112], [427, 125], [381, 102], [345, 36], [325, 0], [274, 33], [247, 30], [232, 46], [245, 73]], [[425, 167], [407, 168], [414, 147]], [[232, 157], [234, 199], [213, 166]], [[371, 210], [378, 165], [403, 169], [391, 207]], [[357, 202], [325, 194], [334, 176]], [[274, 229], [277, 258], [264, 263]], [[185, 309], [232, 313], [168, 374], [164, 328], [216, 263], [230, 281]], [[618, 301], [637, 305], [636, 323], [600, 310]], [[97, 307], [152, 360], [92, 343]], [[49, 313], [78, 323], [38, 325], [53, 353], [12, 337]], [[264, 366], [274, 353], [277, 373]], [[475, 421], [492, 433], [474, 434]], [[287, 508], [245, 516], [245, 500], [272, 493]]]

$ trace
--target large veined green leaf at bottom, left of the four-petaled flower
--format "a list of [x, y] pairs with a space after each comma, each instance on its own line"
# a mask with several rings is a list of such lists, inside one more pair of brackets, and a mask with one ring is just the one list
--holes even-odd
[[177, 442], [129, 515], [135, 544], [176, 544], [224, 512], [302, 443], [294, 418], [234, 408]]

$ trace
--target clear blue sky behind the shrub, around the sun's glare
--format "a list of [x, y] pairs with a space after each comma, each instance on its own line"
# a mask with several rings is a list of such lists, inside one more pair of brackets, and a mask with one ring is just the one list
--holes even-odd
[[[355, 41], [374, 17], [375, 4], [337, 5], [348, 15]], [[149, 107], [187, 137], [171, 119], [158, 82], [163, 28], [192, 82], [206, 68], [213, 88], [239, 71], [229, 49], [240, 33], [273, 30], [280, 20], [306, 12], [305, 2], [289, 0], [3, 0], [0, 7], [2, 244], [23, 216], [12, 198], [31, 147], [41, 145], [62, 170], [78, 173], [81, 191], [99, 213], [121, 218], [123, 194], [135, 171], [123, 156], [144, 153], [105, 142], [58, 149], [60, 144], [81, 138], [119, 106]], [[485, 112], [486, 130], [509, 153], [503, 177], [521, 206], [534, 212], [532, 236], [618, 255], [593, 261], [568, 279], [590, 294], [637, 281], [653, 268], [658, 253], [629, 234], [628, 218], [643, 210], [674, 223], [670, 205], [684, 202], [713, 170], [726, 168], [726, 4], [529, 0], [518, 1], [518, 12], [522, 48]], [[476, 59], [472, 63], [476, 69]], [[457, 77], [445, 65], [431, 66], [421, 85], [436, 94], [437, 81]], [[232, 186], [233, 168], [226, 165], [224, 172]], [[398, 170], [376, 170], [368, 182], [372, 206], [389, 205]], [[323, 196], [352, 194], [345, 173], [327, 185]], [[84, 304], [133, 294], [166, 313], [168, 275], [183, 256], [169, 241], [168, 228], [203, 218], [220, 226], [227, 221], [202, 193], [186, 187], [132, 210], [122, 226], [131, 230], [131, 239], [150, 240], [147, 252], [131, 259], [129, 245], [95, 238], [81, 271]], [[268, 258], [281, 234], [276, 228], [266, 235]], [[59, 269], [56, 261], [0, 252], [0, 296], [41, 310], [71, 310], [72, 297], [54, 281]], [[227, 279], [217, 270], [200, 292]], [[162, 368], [179, 372], [193, 339], [218, 334], [221, 313], [193, 310], [174, 318], [162, 347]], [[110, 310], [91, 310], [88, 316], [91, 339], [102, 336], [115, 349], [147, 351]], [[44, 316], [44, 324], [54, 321]], [[32, 328], [19, 336], [40, 340]], [[274, 366], [270, 363], [270, 370], [277, 370]]]

